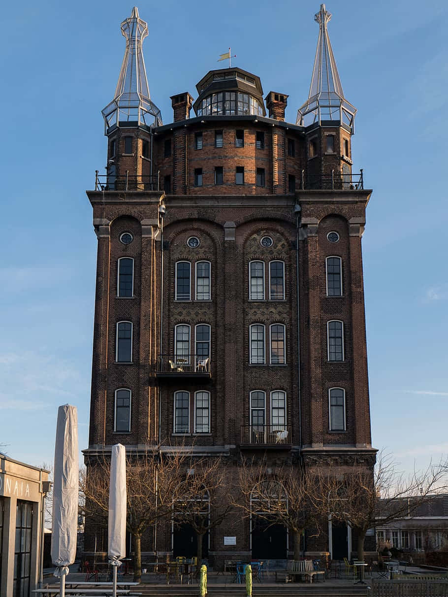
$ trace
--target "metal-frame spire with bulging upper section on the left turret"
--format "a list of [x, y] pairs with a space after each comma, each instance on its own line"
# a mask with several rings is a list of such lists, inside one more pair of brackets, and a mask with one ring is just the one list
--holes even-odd
[[148, 24], [132, 9], [129, 19], [121, 24], [126, 38], [126, 50], [121, 65], [115, 96], [101, 113], [106, 131], [113, 126], [160, 126], [162, 116], [151, 101], [148, 79], [143, 60], [143, 40], [148, 35]]

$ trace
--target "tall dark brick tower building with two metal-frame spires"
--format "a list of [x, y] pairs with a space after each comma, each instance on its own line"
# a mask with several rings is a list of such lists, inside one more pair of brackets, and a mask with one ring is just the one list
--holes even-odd
[[[137, 8], [123, 21], [125, 57], [103, 110], [107, 175], [87, 193], [98, 237], [88, 463], [118, 442], [131, 454], [165, 442], [223, 458], [230, 483], [244, 456], [292, 474], [373, 466], [361, 251], [370, 190], [351, 171], [356, 109], [329, 20], [322, 5], [295, 124], [285, 93], [264, 98], [257, 75], [226, 67], [203, 76], [196, 100], [173, 95], [166, 125], [149, 94], [146, 23]], [[167, 525], [142, 550], [193, 555], [189, 541]], [[350, 546], [350, 528], [329, 523], [305, 547], [342, 558]], [[286, 530], [224, 522], [207, 550], [217, 562], [279, 559], [291, 544]]]

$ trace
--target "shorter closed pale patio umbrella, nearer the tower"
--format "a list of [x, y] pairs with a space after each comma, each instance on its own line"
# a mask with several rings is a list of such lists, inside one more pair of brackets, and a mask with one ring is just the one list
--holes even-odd
[[117, 571], [126, 555], [126, 450], [112, 446], [109, 485], [109, 564], [113, 567], [113, 597], [117, 594]]

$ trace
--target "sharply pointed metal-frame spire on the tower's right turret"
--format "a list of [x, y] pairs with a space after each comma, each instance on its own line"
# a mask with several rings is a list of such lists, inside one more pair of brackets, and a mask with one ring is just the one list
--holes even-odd
[[353, 133], [357, 110], [344, 97], [327, 30], [330, 19], [331, 14], [326, 10], [325, 4], [321, 4], [319, 13], [314, 16], [314, 20], [319, 23], [319, 39], [310, 93], [307, 101], [298, 109], [296, 124], [306, 127], [314, 122], [320, 125], [322, 121], [339, 121]]

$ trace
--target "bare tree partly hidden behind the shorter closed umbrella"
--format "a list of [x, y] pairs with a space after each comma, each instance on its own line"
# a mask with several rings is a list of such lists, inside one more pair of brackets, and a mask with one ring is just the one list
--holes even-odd
[[[158, 448], [126, 458], [126, 528], [134, 544], [134, 580], [141, 578], [141, 537], [162, 519], [171, 518], [173, 500], [179, 495], [188, 454], [179, 450], [162, 454]], [[82, 506], [86, 519], [107, 528], [109, 510], [109, 457], [89, 463], [80, 475]]]

